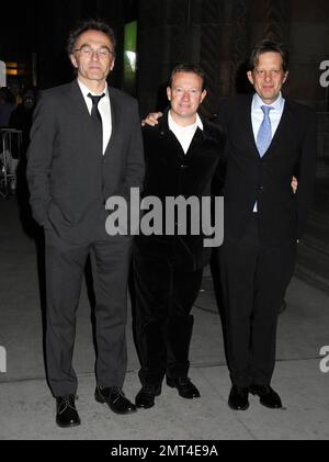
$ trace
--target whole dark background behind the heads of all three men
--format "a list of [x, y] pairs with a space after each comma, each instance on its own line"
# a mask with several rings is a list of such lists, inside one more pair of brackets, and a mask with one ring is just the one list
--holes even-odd
[[283, 41], [291, 50], [285, 94], [319, 113], [329, 111], [328, 87], [319, 84], [320, 63], [329, 59], [327, 0], [7, 1], [0, 10], [0, 59], [19, 61], [26, 84], [33, 61], [38, 88], [67, 82], [73, 78], [65, 52], [68, 32], [91, 16], [105, 19], [116, 32], [117, 58], [110, 82], [117, 88], [124, 24], [138, 21], [135, 95], [143, 115], [163, 105], [163, 86], [172, 67], [192, 61], [206, 72], [208, 97], [202, 111], [212, 117], [220, 98], [250, 90], [242, 63], [264, 36]]

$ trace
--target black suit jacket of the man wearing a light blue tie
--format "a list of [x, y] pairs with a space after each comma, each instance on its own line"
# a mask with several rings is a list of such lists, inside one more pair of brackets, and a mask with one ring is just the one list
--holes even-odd
[[[224, 187], [224, 239], [238, 241], [258, 201], [260, 238], [264, 245], [299, 239], [311, 201], [316, 167], [316, 114], [285, 101], [272, 143], [259, 156], [251, 122], [252, 95], [223, 101], [218, 122], [227, 135]], [[291, 188], [298, 179], [297, 193]]]

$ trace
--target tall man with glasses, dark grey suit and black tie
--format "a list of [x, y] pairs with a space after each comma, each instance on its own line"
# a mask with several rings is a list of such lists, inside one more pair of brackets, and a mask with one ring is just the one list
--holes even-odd
[[27, 155], [33, 215], [45, 229], [46, 365], [60, 427], [80, 424], [72, 353], [89, 255], [97, 297], [95, 399], [117, 414], [136, 410], [122, 392], [132, 238], [106, 234], [105, 202], [112, 195], [128, 201], [131, 188], [141, 185], [144, 156], [136, 101], [106, 83], [114, 48], [113, 31], [99, 21], [70, 34], [77, 79], [43, 92]]

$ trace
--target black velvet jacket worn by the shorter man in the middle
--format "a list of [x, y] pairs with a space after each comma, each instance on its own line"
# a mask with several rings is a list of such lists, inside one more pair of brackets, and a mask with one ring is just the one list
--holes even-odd
[[[155, 127], [143, 128], [146, 176], [144, 195], [155, 195], [161, 200], [163, 211], [166, 198], [179, 195], [212, 195], [214, 176], [220, 177], [225, 137], [223, 129], [203, 121], [204, 129], [197, 128], [190, 148], [184, 154], [179, 140], [168, 126], [168, 112]], [[189, 210], [189, 207], [188, 207]], [[193, 271], [204, 267], [211, 256], [211, 248], [203, 245], [203, 234], [191, 235], [188, 212], [186, 235], [179, 235], [181, 223], [177, 223], [173, 236], [143, 236], [135, 239], [137, 253], [154, 258], [155, 262], [169, 260], [182, 271]], [[163, 213], [163, 227], [166, 214]], [[202, 229], [202, 227], [201, 227]]]

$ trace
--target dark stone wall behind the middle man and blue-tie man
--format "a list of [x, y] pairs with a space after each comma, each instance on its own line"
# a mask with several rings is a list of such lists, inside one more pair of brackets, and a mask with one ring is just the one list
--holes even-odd
[[[214, 116], [220, 98], [251, 90], [243, 67], [250, 47], [265, 36], [284, 42], [291, 50], [284, 93], [320, 113], [318, 164], [329, 165], [329, 90], [319, 83], [320, 64], [329, 60], [327, 0], [140, 0], [138, 27], [143, 115], [167, 104], [173, 66], [192, 61], [207, 76], [202, 112]], [[327, 174], [327, 167], [319, 171]]]

